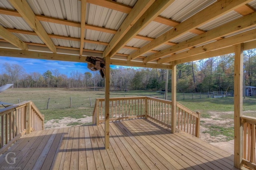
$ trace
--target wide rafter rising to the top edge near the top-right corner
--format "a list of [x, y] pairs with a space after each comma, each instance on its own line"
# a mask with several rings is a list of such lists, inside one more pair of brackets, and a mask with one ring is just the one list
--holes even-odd
[[[189, 20], [181, 22], [152, 42], [144, 45], [142, 48], [140, 48], [140, 50], [132, 53], [128, 59], [135, 59], [136, 57], [150, 51], [151, 49], [154, 49], [165, 42], [171, 41], [174, 38], [189, 32], [190, 30], [193, 30], [211, 20], [214, 20], [215, 18], [218, 18], [223, 14], [226, 14], [236, 8], [239, 8], [240, 6], [243, 6], [244, 4], [247, 4], [248, 2], [250, 2], [250, 0], [235, 0], [231, 2], [226, 0], [218, 0], [214, 4], [191, 16]], [[198, 18], [200, 18], [200, 20]]]

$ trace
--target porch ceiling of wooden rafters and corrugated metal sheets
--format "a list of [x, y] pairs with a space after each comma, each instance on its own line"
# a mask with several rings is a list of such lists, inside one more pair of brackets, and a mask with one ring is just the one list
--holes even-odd
[[256, 0], [1, 0], [0, 55], [168, 69], [256, 48], [255, 10]]

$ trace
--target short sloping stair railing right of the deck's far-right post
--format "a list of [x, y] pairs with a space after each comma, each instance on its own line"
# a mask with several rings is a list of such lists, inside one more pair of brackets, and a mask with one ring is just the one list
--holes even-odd
[[176, 104], [177, 128], [196, 137], [200, 131], [200, 112], [193, 112], [180, 103]]

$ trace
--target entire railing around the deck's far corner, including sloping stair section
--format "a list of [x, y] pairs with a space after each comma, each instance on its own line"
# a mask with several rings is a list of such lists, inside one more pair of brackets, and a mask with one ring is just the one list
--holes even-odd
[[[104, 122], [104, 99], [96, 99], [93, 123]], [[199, 137], [200, 112], [193, 112], [180, 103], [176, 104], [176, 128]], [[138, 117], [150, 118], [171, 128], [172, 101], [154, 97], [119, 97], [110, 98], [110, 121], [133, 119]]]

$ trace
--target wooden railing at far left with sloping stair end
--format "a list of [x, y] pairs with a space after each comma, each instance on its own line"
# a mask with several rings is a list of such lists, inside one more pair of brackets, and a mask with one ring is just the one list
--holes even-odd
[[32, 101], [24, 101], [0, 109], [0, 116], [0, 154], [23, 134], [44, 130], [44, 115], [40, 113]]

